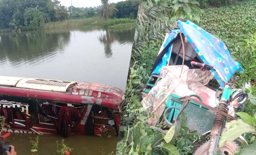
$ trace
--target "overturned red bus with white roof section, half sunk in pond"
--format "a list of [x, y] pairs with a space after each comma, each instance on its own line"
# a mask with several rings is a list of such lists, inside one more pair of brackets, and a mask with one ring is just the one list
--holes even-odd
[[124, 92], [87, 82], [0, 76], [0, 116], [8, 132], [117, 135]]

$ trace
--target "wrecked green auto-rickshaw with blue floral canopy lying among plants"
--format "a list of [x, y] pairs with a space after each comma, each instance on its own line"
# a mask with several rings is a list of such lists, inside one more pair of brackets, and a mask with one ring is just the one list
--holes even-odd
[[[155, 127], [165, 122], [171, 127], [185, 120], [190, 131], [210, 135], [194, 155], [233, 155], [240, 148], [235, 141], [221, 148], [218, 141], [225, 122], [237, 119], [235, 111], [243, 109], [248, 96], [234, 88], [241, 64], [221, 40], [196, 24], [178, 21], [177, 25], [180, 29], [166, 34], [142, 93], [147, 123]], [[242, 136], [237, 140], [246, 143]]]

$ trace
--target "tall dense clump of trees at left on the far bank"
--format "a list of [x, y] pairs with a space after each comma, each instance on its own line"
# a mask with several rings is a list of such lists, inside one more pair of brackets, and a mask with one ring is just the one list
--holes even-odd
[[66, 8], [57, 0], [0, 0], [0, 29], [20, 30], [26, 25], [33, 29], [67, 18]]

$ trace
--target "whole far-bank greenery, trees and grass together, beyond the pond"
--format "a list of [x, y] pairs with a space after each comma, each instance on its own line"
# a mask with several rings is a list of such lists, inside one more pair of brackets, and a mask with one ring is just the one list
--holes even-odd
[[102, 5], [94, 8], [72, 7], [71, 13], [71, 7], [62, 6], [58, 0], [0, 0], [0, 32], [79, 28], [87, 25], [124, 26], [125, 23], [135, 22], [138, 5], [138, 0], [118, 3], [102, 0]]

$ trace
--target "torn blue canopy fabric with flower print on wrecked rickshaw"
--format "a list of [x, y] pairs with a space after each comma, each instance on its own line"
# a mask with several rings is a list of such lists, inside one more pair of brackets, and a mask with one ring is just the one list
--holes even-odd
[[[179, 32], [183, 33], [200, 59], [204, 63], [212, 65], [219, 73], [218, 77], [215, 71], [211, 71], [221, 87], [224, 87], [222, 81], [228, 82], [237, 70], [242, 70], [240, 69], [241, 64], [231, 58], [226, 45], [221, 40], [204, 31], [191, 21], [186, 21], [185, 23], [178, 21], [177, 25], [180, 29], [173, 30], [167, 34], [163, 48], [166, 48], [178, 36]], [[170, 59], [171, 49], [172, 45], [169, 45], [168, 50], [166, 50], [161, 61], [156, 65], [152, 73], [160, 73], [161, 68]]]

